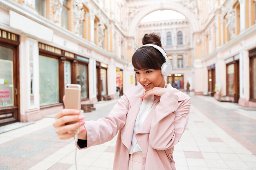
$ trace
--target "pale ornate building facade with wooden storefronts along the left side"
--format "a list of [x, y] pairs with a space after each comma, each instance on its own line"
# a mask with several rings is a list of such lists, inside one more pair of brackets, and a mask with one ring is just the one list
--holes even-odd
[[0, 1], [0, 125], [56, 113], [68, 83], [82, 104], [132, 86], [125, 12], [115, 0]]

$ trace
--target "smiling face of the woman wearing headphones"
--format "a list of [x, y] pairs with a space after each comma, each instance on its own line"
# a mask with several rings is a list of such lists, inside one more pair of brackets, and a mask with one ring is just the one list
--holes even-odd
[[134, 69], [136, 73], [136, 79], [141, 86], [145, 88], [146, 91], [154, 87], [164, 87], [165, 81], [164, 76], [161, 75], [160, 70], [147, 69], [147, 70], [137, 70]]

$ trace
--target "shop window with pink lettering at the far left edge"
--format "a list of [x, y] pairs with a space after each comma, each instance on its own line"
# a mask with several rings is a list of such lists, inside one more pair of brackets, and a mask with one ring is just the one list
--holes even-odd
[[13, 50], [0, 46], [0, 107], [13, 106]]

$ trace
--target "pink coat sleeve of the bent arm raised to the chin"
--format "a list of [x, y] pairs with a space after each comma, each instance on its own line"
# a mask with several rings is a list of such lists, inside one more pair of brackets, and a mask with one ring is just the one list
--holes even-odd
[[189, 120], [190, 97], [178, 102], [178, 96], [163, 94], [151, 123], [149, 142], [156, 150], [172, 148], [178, 141]]

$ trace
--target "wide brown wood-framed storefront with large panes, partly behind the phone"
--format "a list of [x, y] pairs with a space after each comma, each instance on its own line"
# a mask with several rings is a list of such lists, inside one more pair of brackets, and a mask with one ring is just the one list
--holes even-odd
[[80, 84], [88, 100], [88, 62], [85, 57], [39, 43], [40, 108], [62, 105], [65, 84]]

